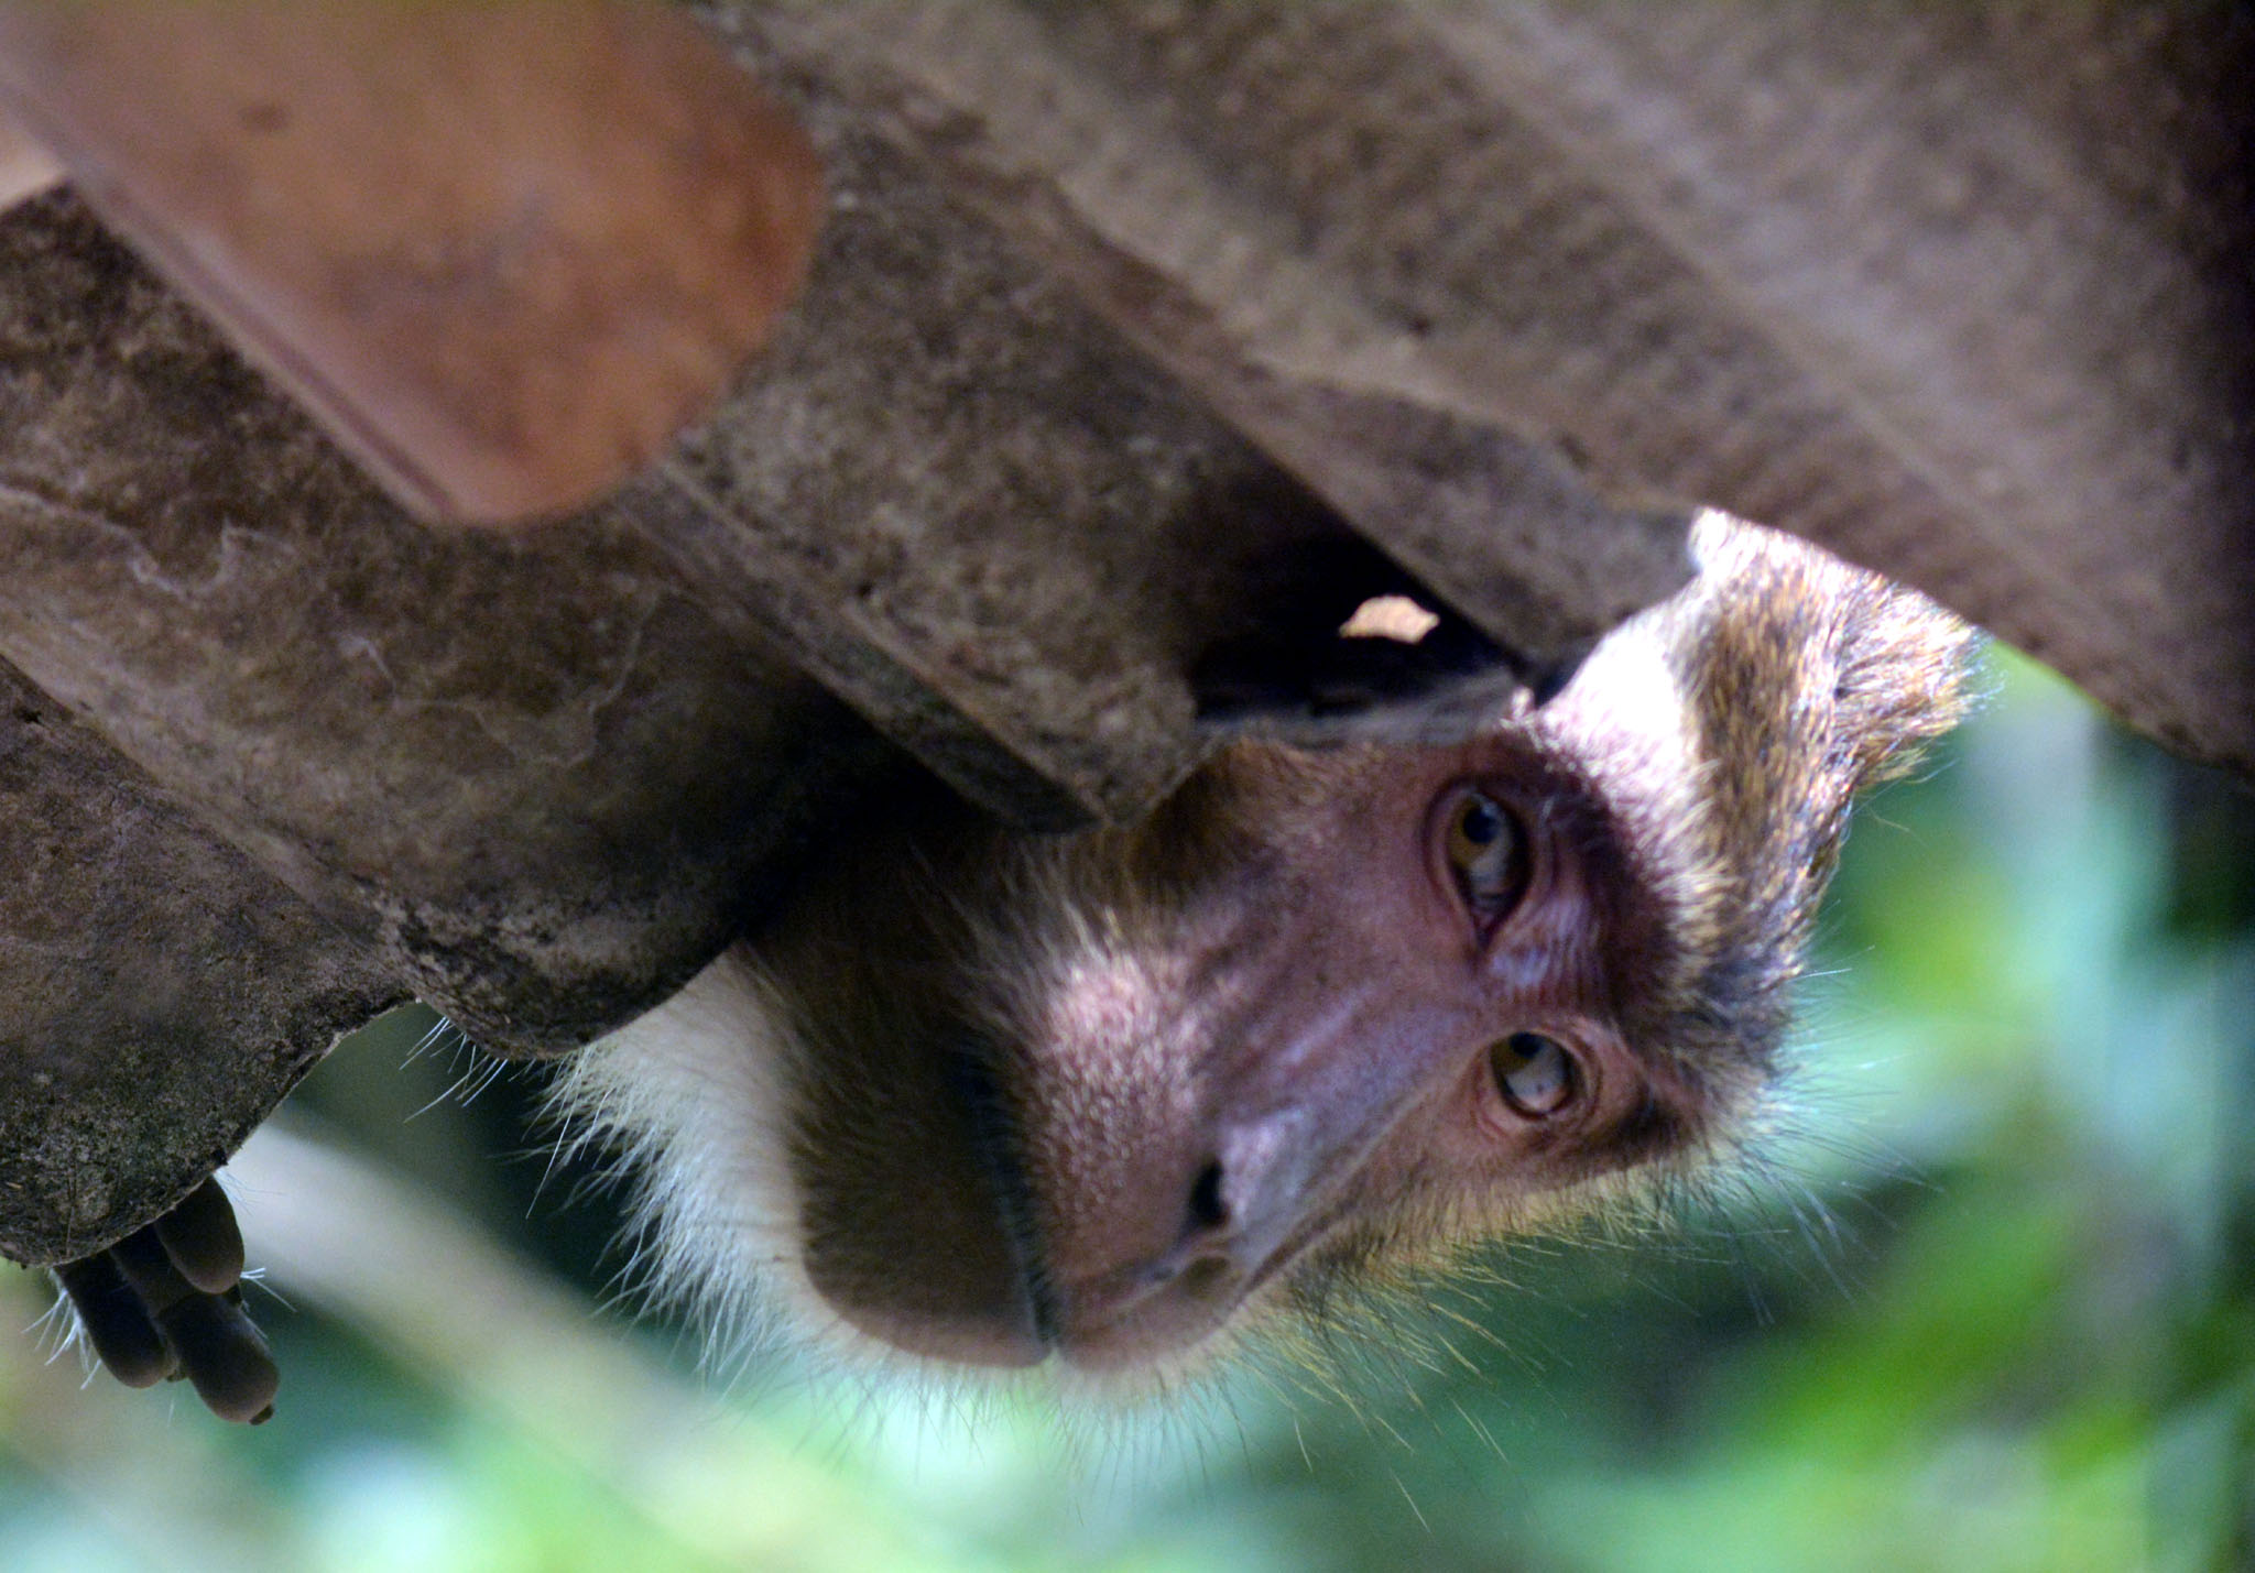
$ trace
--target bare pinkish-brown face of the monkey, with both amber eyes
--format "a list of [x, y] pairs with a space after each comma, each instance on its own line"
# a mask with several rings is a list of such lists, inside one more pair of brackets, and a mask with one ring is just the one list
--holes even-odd
[[1666, 913], [1545, 737], [1240, 746], [1132, 832], [943, 811], [839, 859], [762, 947], [825, 1309], [956, 1363], [1175, 1366], [1698, 1131], [1617, 1010]]

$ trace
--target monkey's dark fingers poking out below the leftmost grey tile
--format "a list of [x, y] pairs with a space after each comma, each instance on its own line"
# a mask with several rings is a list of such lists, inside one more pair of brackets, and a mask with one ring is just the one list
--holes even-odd
[[275, 1413], [282, 1375], [244, 1312], [244, 1233], [216, 1179], [54, 1276], [95, 1354], [129, 1388], [187, 1377], [221, 1420], [259, 1424]]

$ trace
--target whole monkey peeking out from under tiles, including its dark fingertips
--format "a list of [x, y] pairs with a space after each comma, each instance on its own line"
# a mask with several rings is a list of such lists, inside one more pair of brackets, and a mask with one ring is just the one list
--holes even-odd
[[[1245, 737], [1071, 834], [936, 780], [875, 805], [561, 1066], [652, 1289], [823, 1359], [1125, 1390], [1730, 1165], [1849, 802], [1962, 717], [1978, 636], [1721, 514], [1691, 550], [1457, 744]], [[65, 1289], [120, 1375], [262, 1418], [255, 1330], [167, 1323], [239, 1273], [198, 1206]]]

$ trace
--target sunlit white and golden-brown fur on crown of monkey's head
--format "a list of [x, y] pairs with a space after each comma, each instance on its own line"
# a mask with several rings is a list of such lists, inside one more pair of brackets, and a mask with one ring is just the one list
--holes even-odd
[[1849, 802], [1964, 717], [1978, 636], [1917, 590], [1727, 514], [1694, 523], [1691, 554], [1694, 584], [1626, 629], [1673, 678], [1682, 757], [1617, 768], [1660, 782], [1642, 802], [1615, 791], [1615, 811], [1666, 910], [1664, 942], [1630, 956], [1624, 1030], [1709, 1086], [1739, 1066], [1739, 1086], [1761, 1088]]

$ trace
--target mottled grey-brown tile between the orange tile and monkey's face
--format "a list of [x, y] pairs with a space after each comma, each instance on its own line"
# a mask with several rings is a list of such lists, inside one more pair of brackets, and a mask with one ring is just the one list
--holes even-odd
[[907, 158], [823, 151], [801, 309], [622, 507], [972, 796], [1128, 818], [1197, 762], [1247, 579], [1353, 536]]

